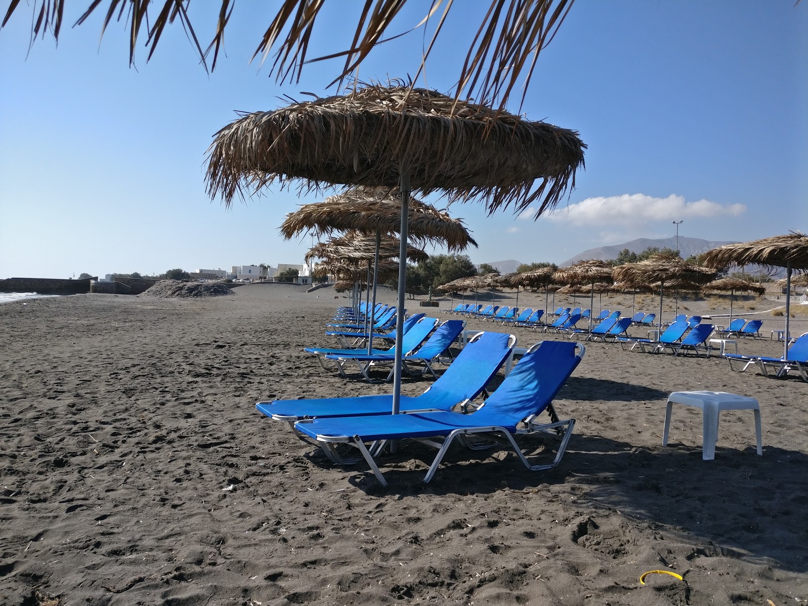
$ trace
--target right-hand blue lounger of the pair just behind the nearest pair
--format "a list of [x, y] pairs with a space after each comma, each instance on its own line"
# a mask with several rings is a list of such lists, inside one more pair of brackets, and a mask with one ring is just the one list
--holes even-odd
[[[452, 343], [455, 342], [455, 339], [457, 339], [464, 328], [465, 322], [463, 320], [447, 320], [438, 326], [435, 332], [429, 336], [429, 339], [421, 343], [415, 351], [402, 356], [402, 369], [410, 375], [415, 375], [415, 372], [412, 372], [410, 364], [420, 363], [424, 365], [423, 372], [420, 372], [420, 374], [428, 371], [431, 372], [432, 377], [437, 378], [435, 371], [431, 368], [431, 361], [444, 353], [449, 347], [452, 347]], [[339, 374], [343, 377], [347, 377], [345, 364], [353, 362], [359, 367], [360, 374], [368, 381], [373, 381], [368, 373], [371, 368], [377, 366], [390, 368], [385, 381], [389, 381], [393, 378], [393, 364], [395, 363], [394, 353], [371, 354], [370, 356], [366, 353], [358, 352], [355, 352], [351, 356], [326, 354], [326, 360], [334, 360], [335, 364], [337, 364]]]

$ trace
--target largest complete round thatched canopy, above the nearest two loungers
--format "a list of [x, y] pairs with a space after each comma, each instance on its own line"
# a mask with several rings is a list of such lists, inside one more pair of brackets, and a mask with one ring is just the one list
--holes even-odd
[[578, 133], [432, 90], [360, 85], [347, 95], [242, 116], [208, 149], [208, 194], [236, 196], [298, 182], [439, 191], [489, 213], [553, 208], [583, 166]]

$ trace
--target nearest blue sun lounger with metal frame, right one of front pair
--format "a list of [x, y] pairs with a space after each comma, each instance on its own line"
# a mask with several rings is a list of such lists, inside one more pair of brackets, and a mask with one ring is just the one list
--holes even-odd
[[[578, 349], [579, 352], [576, 351]], [[335, 444], [356, 447], [383, 486], [387, 482], [374, 457], [383, 451], [389, 440], [410, 439], [438, 448], [435, 460], [423, 478], [424, 482], [433, 478], [454, 440], [474, 448], [469, 438], [478, 434], [506, 440], [506, 444], [514, 449], [516, 456], [531, 471], [550, 469], [558, 465], [564, 456], [575, 425], [574, 419], [558, 419], [552, 406], [553, 398], [578, 366], [583, 354], [581, 343], [537, 343], [528, 349], [486, 402], [468, 415], [439, 410], [402, 415], [305, 419], [295, 423], [295, 429], [316, 440], [326, 453], [334, 451]], [[549, 413], [550, 423], [538, 422], [537, 417], [543, 412]], [[514, 435], [538, 431], [557, 437], [561, 435], [558, 452], [554, 460], [546, 465], [532, 465], [513, 438]], [[365, 442], [371, 443], [369, 449]]]

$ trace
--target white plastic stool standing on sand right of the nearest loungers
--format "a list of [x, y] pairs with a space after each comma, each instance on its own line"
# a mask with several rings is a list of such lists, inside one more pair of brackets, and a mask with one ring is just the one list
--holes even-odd
[[667, 446], [667, 434], [671, 429], [671, 410], [674, 403], [685, 406], [701, 408], [702, 434], [704, 442], [701, 445], [701, 458], [712, 461], [715, 458], [715, 444], [718, 442], [718, 413], [722, 410], [753, 410], [755, 412], [755, 438], [757, 451], [763, 455], [763, 439], [760, 436], [760, 404], [755, 398], [739, 396], [726, 391], [675, 391], [667, 397], [667, 410], [665, 410], [665, 430], [662, 436], [662, 445]]

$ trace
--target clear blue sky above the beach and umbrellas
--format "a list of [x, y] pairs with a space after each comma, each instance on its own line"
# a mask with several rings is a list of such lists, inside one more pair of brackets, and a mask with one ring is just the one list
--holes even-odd
[[[332, 2], [310, 57], [342, 48], [360, 4]], [[478, 24], [469, 7], [488, 2], [456, 4], [427, 66], [437, 90], [451, 88], [455, 49]], [[277, 227], [318, 196], [266, 191], [225, 209], [204, 192], [205, 150], [234, 111], [280, 107], [280, 95], [305, 99], [302, 90], [335, 93], [325, 88], [334, 63], [278, 86], [268, 66], [248, 62], [272, 14], [272, 2], [263, 14], [255, 5], [236, 5], [213, 74], [181, 27], [152, 61], [141, 48], [129, 68], [124, 27], [114, 24], [99, 44], [99, 15], [63, 28], [58, 47], [46, 37], [28, 53], [31, 11], [20, 7], [0, 31], [0, 278], [301, 262], [309, 238], [286, 242]], [[427, 6], [413, 2], [396, 32]], [[193, 16], [205, 40], [215, 15]], [[422, 44], [415, 32], [383, 45], [360, 78], [415, 74]], [[561, 262], [593, 246], [671, 236], [673, 220], [684, 220], [680, 235], [710, 240], [808, 231], [806, 74], [806, 2], [578, 0], [541, 53], [522, 112], [579, 130], [586, 170], [569, 200], [538, 221], [452, 204], [480, 243], [469, 255]]]

